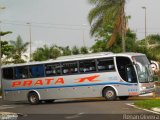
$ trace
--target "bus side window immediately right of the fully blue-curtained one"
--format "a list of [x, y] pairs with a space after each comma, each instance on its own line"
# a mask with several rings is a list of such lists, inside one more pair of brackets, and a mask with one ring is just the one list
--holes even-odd
[[46, 76], [54, 76], [61, 74], [61, 68], [59, 63], [45, 65]]

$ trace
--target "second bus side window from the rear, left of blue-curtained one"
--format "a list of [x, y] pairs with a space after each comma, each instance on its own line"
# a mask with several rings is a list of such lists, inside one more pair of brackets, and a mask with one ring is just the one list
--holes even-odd
[[28, 78], [28, 67], [15, 67], [14, 68], [15, 79], [26, 79]]

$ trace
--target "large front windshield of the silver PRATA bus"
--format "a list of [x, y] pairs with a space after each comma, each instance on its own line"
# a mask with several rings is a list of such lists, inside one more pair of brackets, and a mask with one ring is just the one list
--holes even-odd
[[146, 56], [136, 56], [136, 69], [140, 83], [148, 83], [153, 81], [150, 62]]

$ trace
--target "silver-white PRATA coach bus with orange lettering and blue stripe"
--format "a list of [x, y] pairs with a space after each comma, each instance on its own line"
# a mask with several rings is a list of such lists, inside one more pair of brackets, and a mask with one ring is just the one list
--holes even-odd
[[150, 62], [140, 53], [76, 55], [2, 67], [3, 99], [8, 101], [126, 100], [153, 91]]

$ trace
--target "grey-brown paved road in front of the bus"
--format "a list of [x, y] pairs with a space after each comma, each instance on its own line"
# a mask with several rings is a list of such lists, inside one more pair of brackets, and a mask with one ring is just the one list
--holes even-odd
[[127, 105], [134, 101], [63, 100], [54, 103], [30, 105], [28, 103], [0, 100], [0, 111], [26, 115], [25, 117], [19, 117], [20, 120], [97, 120], [99, 118], [99, 120], [106, 118], [121, 120], [125, 114], [152, 114]]

